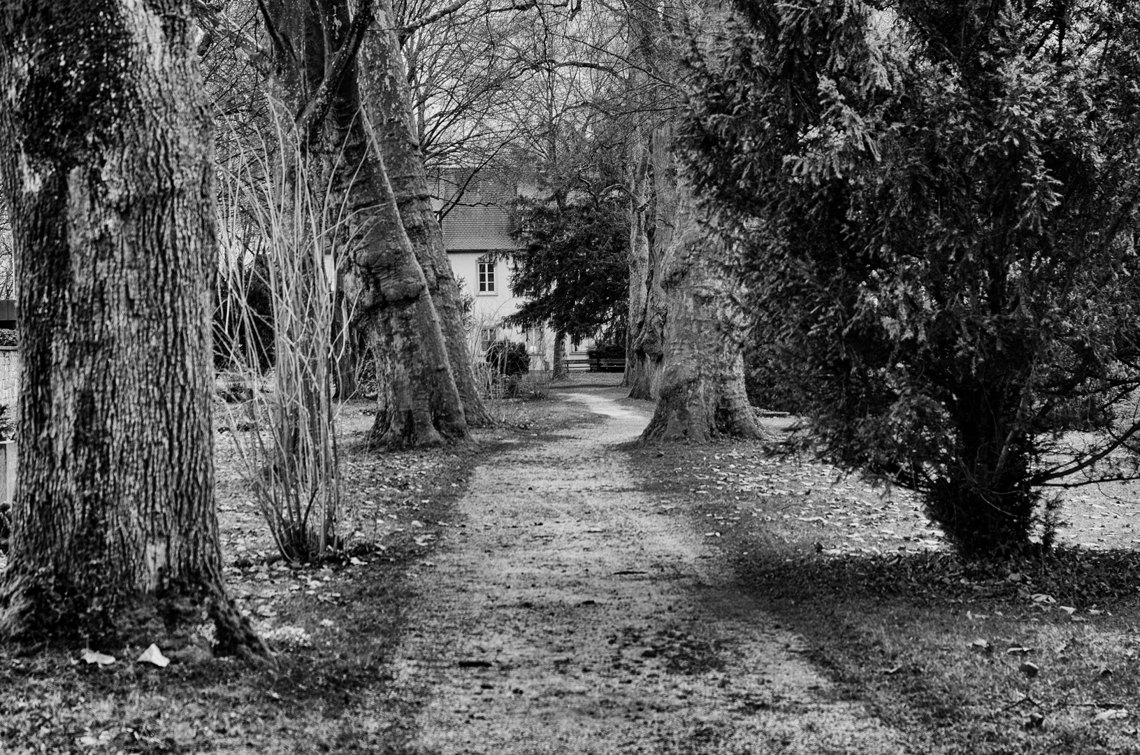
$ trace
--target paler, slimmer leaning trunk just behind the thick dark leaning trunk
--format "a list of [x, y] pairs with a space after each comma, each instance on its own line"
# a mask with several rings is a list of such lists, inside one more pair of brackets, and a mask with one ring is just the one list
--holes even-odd
[[376, 25], [360, 49], [365, 103], [380, 138], [384, 168], [416, 260], [423, 268], [427, 291], [439, 315], [448, 360], [463, 411], [471, 427], [491, 423], [475, 384], [475, 373], [463, 328], [459, 286], [443, 246], [443, 233], [431, 205], [427, 173], [412, 115], [407, 72], [396, 38], [391, 3], [382, 0]]

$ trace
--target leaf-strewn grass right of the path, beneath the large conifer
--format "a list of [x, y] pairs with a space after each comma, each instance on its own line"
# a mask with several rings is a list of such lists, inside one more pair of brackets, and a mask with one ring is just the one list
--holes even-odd
[[[913, 498], [833, 468], [751, 444], [634, 458], [743, 587], [804, 635], [840, 693], [911, 732], [922, 752], [1140, 752], [1140, 554], [1131, 547], [967, 566]], [[1085, 495], [1073, 505], [1110, 504]], [[1069, 539], [1112, 541], [1106, 527], [1131, 535], [1132, 510], [1114, 511]]]

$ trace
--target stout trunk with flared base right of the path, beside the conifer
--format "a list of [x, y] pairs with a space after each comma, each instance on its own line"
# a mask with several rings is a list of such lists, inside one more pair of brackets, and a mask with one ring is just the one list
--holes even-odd
[[665, 263], [668, 311], [661, 395], [643, 441], [706, 443], [760, 438], [744, 395], [743, 289], [728, 273], [728, 243], [701, 222], [695, 200], [677, 186], [676, 227]]

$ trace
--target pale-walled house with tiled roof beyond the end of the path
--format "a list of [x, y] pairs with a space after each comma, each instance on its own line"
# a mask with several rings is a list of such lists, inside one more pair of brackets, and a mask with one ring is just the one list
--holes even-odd
[[537, 189], [532, 182], [520, 185], [503, 174], [470, 180], [469, 176], [470, 171], [443, 171], [432, 181], [432, 189], [437, 212], [445, 213], [440, 224], [443, 246], [461, 294], [472, 299], [472, 355], [481, 357], [496, 340], [506, 339], [526, 343], [531, 370], [549, 370], [554, 360], [549, 328], [523, 331], [503, 325], [522, 305], [511, 290], [511, 254], [520, 246], [511, 237], [511, 204]]

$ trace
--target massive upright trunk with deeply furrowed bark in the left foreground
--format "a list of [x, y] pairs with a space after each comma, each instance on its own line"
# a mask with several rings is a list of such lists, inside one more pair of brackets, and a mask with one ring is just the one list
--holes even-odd
[[223, 651], [266, 652], [221, 577], [213, 155], [189, 17], [185, 0], [0, 11], [22, 352], [0, 635], [165, 649], [209, 611]]

